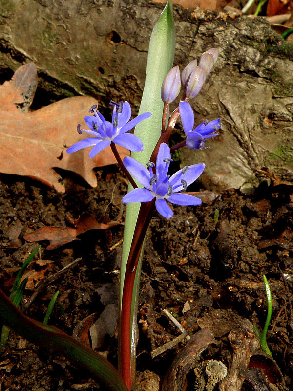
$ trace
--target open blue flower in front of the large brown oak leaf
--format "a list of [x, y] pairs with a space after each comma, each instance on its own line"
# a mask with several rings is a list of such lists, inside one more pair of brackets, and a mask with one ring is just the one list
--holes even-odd
[[151, 113], [144, 113], [131, 121], [131, 107], [128, 102], [120, 102], [119, 105], [111, 101], [114, 106], [112, 122], [105, 120], [99, 111], [95, 111], [96, 105], [91, 107], [90, 112], [94, 115], [84, 117], [84, 121], [90, 130], [81, 129], [77, 126], [79, 134], [89, 133], [94, 137], [85, 138], [67, 149], [67, 153], [73, 153], [86, 147], [93, 147], [89, 152], [89, 157], [94, 157], [97, 153], [108, 147], [111, 142], [121, 145], [130, 151], [142, 151], [144, 146], [140, 138], [134, 134], [126, 134], [137, 124], [151, 116]]

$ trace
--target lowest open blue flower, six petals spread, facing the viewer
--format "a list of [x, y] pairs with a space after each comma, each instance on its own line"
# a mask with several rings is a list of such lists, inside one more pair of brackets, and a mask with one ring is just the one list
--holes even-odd
[[[205, 165], [200, 163], [185, 166], [184, 169], [170, 176], [168, 169], [171, 161], [170, 148], [165, 143], [160, 145], [156, 164], [148, 163], [148, 170], [132, 157], [125, 157], [123, 163], [126, 169], [144, 186], [144, 189], [132, 190], [123, 197], [122, 201], [124, 203], [148, 202], [156, 198], [156, 209], [166, 218], [173, 216], [166, 200], [176, 205], [200, 205], [199, 198], [178, 192], [186, 190], [187, 186], [202, 174]], [[153, 167], [156, 167], [156, 174], [153, 173]]]

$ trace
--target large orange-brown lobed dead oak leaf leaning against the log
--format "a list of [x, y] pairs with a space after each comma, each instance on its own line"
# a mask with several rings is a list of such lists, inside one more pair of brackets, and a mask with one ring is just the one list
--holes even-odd
[[[93, 159], [89, 149], [72, 155], [66, 148], [86, 138], [77, 133], [77, 124], [84, 124], [84, 116], [96, 100], [75, 96], [42, 109], [27, 111], [37, 86], [37, 70], [33, 63], [22, 65], [9, 82], [0, 86], [0, 172], [38, 179], [64, 192], [61, 177], [53, 168], [73, 171], [91, 186], [97, 186], [94, 167], [116, 163], [108, 147]], [[84, 125], [83, 125], [84, 126]], [[122, 159], [129, 152], [118, 146]]]

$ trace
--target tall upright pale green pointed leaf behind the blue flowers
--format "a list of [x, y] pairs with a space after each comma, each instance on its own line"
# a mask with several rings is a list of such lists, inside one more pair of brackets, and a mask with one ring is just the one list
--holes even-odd
[[[172, 1], [167, 4], [155, 24], [149, 42], [146, 82], [139, 114], [150, 112], [152, 116], [142, 121], [135, 128], [134, 134], [144, 143], [144, 151], [132, 152], [131, 156], [146, 164], [161, 134], [163, 102], [161, 99], [162, 83], [171, 69], [175, 52], [175, 29], [172, 15]], [[128, 191], [132, 190], [129, 186]], [[121, 298], [125, 268], [138, 216], [140, 204], [131, 203], [126, 207], [126, 220], [121, 265]]]

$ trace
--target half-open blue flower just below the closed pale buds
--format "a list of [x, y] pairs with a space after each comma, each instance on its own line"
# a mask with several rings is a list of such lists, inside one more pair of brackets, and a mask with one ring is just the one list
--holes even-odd
[[179, 112], [183, 130], [186, 134], [186, 145], [189, 148], [192, 148], [193, 150], [206, 148], [206, 139], [219, 135], [219, 133], [216, 133], [216, 131], [221, 127], [221, 120], [219, 118], [210, 122], [206, 120], [193, 129], [194, 114], [189, 103], [180, 102]]

